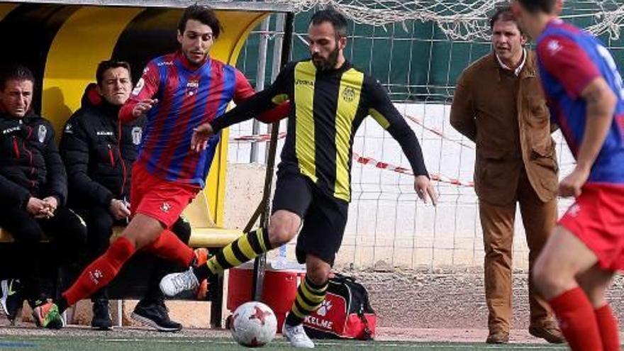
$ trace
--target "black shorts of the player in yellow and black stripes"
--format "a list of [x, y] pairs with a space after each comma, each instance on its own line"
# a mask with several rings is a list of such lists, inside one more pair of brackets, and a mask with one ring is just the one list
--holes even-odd
[[294, 212], [303, 220], [296, 247], [299, 263], [311, 254], [333, 266], [345, 233], [349, 203], [324, 194], [302, 174], [278, 172], [272, 211], [278, 210]]

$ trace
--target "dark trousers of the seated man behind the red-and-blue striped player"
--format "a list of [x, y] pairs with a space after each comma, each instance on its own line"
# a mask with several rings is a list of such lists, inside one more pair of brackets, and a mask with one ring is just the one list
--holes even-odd
[[[124, 219], [116, 221], [108, 208], [104, 206], [93, 206], [91, 208], [81, 208], [77, 212], [87, 222], [87, 253], [89, 256], [89, 262], [102, 255], [110, 245], [111, 235], [113, 234], [113, 226], [122, 225], [125, 226], [128, 222]], [[191, 225], [184, 221], [182, 218], [178, 218], [176, 223], [172, 225], [172, 232], [174, 232], [183, 243], [188, 244], [191, 238]], [[162, 292], [160, 291], [160, 279], [165, 277], [165, 274], [178, 271], [182, 267], [178, 267], [177, 264], [169, 260], [157, 259], [150, 279], [147, 284], [147, 292], [143, 296], [143, 302], [155, 302], [164, 299]], [[100, 289], [93, 296], [91, 301], [98, 299], [108, 299], [108, 293], [106, 287]]]

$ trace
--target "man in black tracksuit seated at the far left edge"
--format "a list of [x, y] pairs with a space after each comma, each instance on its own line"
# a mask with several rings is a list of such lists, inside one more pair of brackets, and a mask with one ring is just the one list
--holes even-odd
[[[87, 238], [82, 219], [65, 207], [67, 174], [52, 124], [31, 109], [34, 82], [19, 65], [0, 74], [0, 227], [13, 236], [19, 258], [11, 262], [19, 279], [0, 284], [0, 306], [11, 321], [23, 299], [33, 308], [46, 302], [40, 263], [76, 260]], [[40, 244], [43, 233], [51, 245]]]

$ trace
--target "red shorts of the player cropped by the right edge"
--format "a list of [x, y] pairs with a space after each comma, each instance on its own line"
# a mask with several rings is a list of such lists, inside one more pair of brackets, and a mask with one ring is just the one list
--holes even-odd
[[624, 186], [594, 183], [559, 220], [598, 257], [602, 269], [624, 270]]

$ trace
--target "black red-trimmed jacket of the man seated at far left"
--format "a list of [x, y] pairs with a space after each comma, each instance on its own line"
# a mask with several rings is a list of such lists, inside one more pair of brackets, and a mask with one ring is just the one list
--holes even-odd
[[33, 112], [16, 118], [0, 111], [0, 208], [26, 208], [30, 196], [67, 199], [67, 174], [52, 124]]

